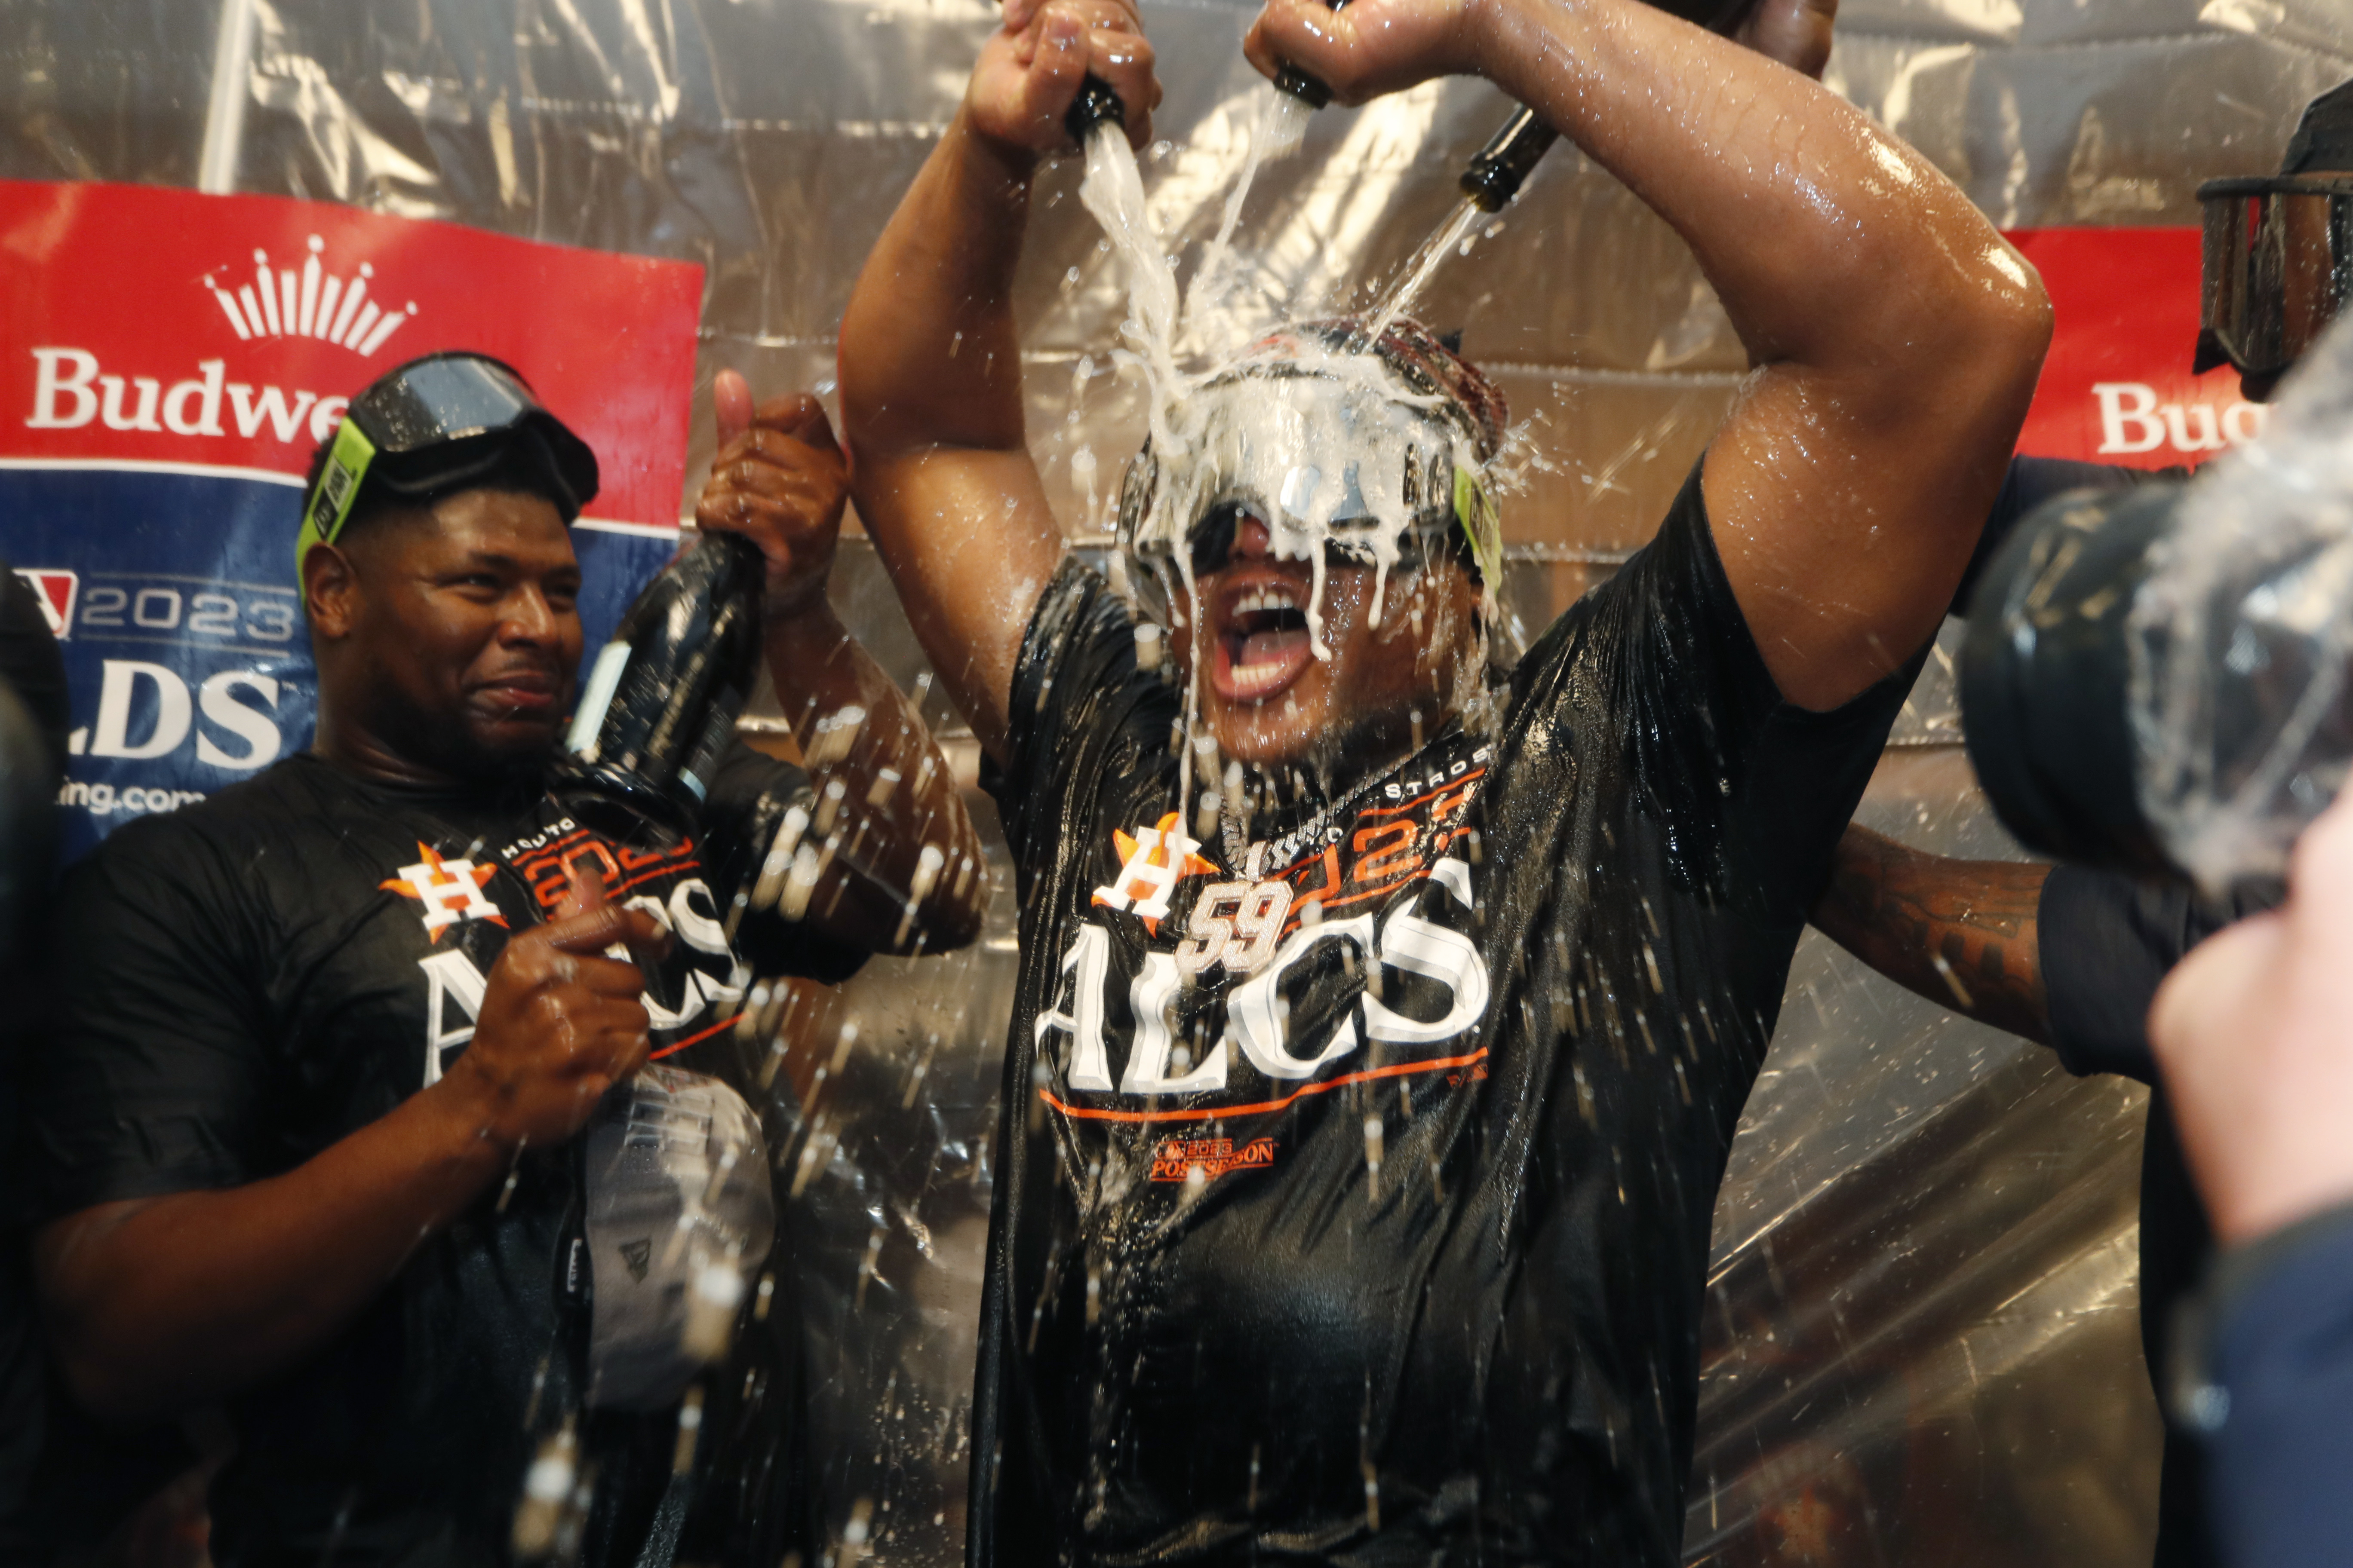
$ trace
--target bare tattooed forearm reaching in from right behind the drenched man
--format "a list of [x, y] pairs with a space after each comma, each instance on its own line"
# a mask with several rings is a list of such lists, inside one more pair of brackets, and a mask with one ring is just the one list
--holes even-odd
[[1847, 827], [1812, 922], [1904, 990], [2049, 1044], [2040, 929], [2047, 865], [1948, 860]]

